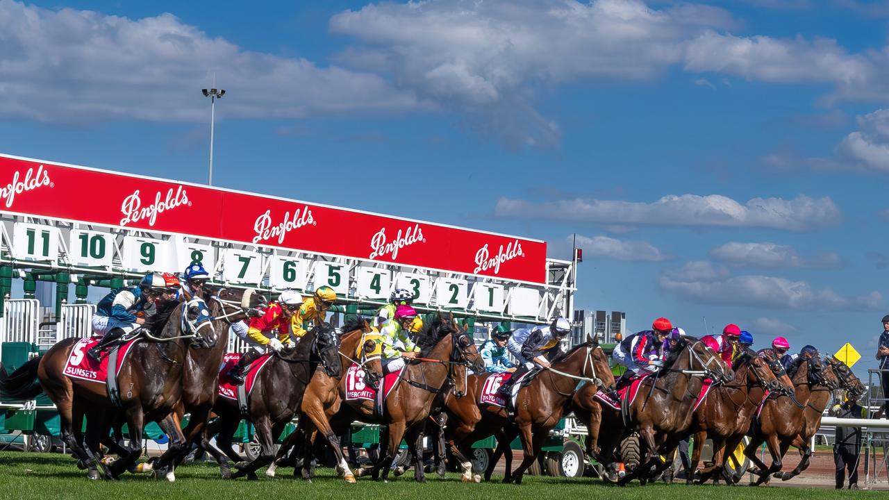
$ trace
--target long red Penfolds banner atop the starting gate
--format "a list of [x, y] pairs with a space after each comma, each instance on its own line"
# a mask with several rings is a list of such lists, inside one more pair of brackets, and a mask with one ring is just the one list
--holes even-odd
[[546, 282], [546, 243], [0, 155], [0, 212]]

